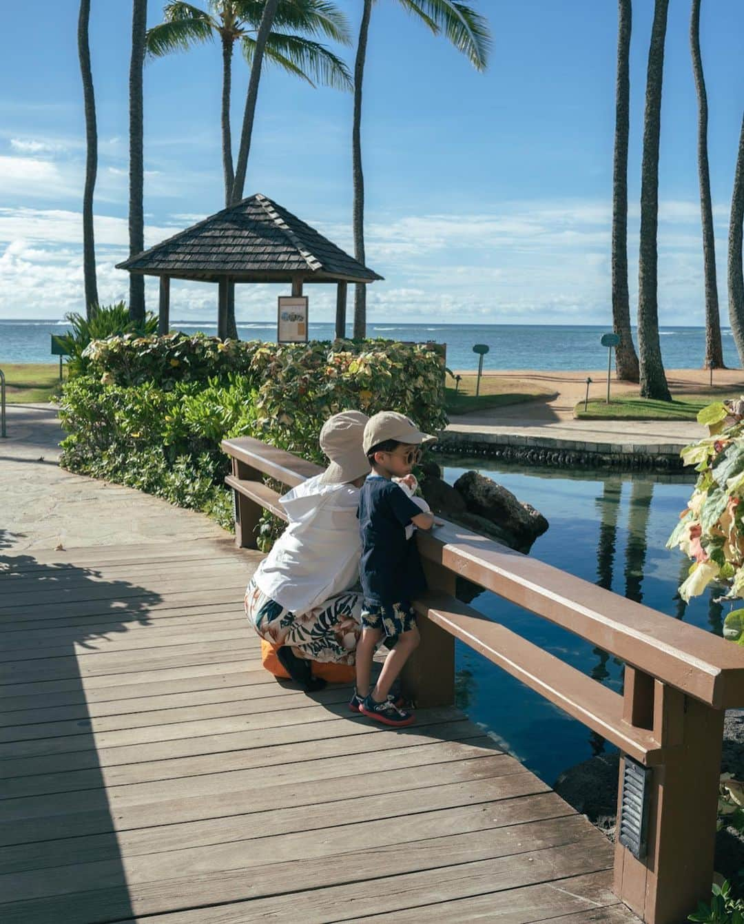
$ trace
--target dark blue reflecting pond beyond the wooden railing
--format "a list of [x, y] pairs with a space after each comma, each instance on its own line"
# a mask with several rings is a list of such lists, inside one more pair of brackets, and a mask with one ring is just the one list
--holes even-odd
[[[694, 478], [684, 474], [574, 474], [482, 458], [444, 458], [440, 464], [450, 484], [475, 469], [536, 507], [550, 529], [532, 546], [534, 557], [643, 602], [670, 619], [722, 634], [726, 613], [721, 603], [714, 602], [721, 590], [708, 590], [689, 603], [680, 600], [677, 587], [687, 575], [689, 560], [677, 550], [665, 549], [687, 505]], [[623, 663], [605, 651], [489, 591], [483, 591], [472, 605], [584, 674], [622, 691]], [[551, 785], [573, 764], [614, 749], [459, 642], [457, 705]]]

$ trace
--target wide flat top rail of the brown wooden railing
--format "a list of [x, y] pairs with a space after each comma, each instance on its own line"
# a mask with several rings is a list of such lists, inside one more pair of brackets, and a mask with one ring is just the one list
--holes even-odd
[[[292, 487], [323, 468], [250, 437], [223, 450]], [[697, 626], [445, 522], [418, 533], [421, 556], [516, 603], [714, 709], [744, 704], [744, 651]]]

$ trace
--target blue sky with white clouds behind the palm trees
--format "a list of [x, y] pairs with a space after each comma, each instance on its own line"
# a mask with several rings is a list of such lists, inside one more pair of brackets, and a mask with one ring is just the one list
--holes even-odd
[[[362, 114], [370, 322], [611, 321], [610, 226], [616, 3], [471, 0], [490, 20], [485, 73], [397, 0], [372, 10]], [[348, 16], [353, 62], [360, 0]], [[92, 0], [99, 133], [95, 234], [102, 303], [127, 298], [128, 57], [131, 3]], [[32, 23], [7, 4], [0, 37], [0, 318], [83, 310], [81, 202], [85, 140], [77, 0], [35, 0]], [[163, 4], [149, 0], [148, 25]], [[628, 256], [637, 307], [643, 94], [653, 0], [634, 0]], [[718, 289], [727, 326], [726, 237], [744, 110], [744, 3], [703, 0], [701, 50]], [[249, 69], [235, 57], [239, 136]], [[223, 207], [221, 54], [206, 44], [148, 62], [144, 76], [145, 238]], [[245, 194], [262, 192], [343, 249], [351, 244], [348, 92], [262, 74]], [[689, 0], [670, 0], [660, 161], [659, 314], [703, 319], [697, 103]], [[157, 281], [147, 283], [152, 310]], [[275, 317], [282, 286], [238, 286], [239, 321]], [[286, 293], [288, 294], [288, 293]], [[331, 321], [335, 289], [312, 286], [312, 321]], [[351, 298], [349, 298], [349, 315]], [[213, 320], [214, 286], [174, 283], [171, 318]]]

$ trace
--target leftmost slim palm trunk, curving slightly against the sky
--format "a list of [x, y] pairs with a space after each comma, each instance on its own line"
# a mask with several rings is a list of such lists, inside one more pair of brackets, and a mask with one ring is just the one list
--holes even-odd
[[98, 131], [95, 123], [95, 95], [91, 71], [91, 47], [88, 22], [91, 18], [91, 0], [80, 0], [78, 18], [78, 56], [82, 77], [82, 98], [85, 107], [85, 188], [82, 194], [82, 266], [85, 284], [85, 314], [98, 308], [98, 286], [95, 277], [95, 239], [93, 237], [93, 189], [98, 171]]

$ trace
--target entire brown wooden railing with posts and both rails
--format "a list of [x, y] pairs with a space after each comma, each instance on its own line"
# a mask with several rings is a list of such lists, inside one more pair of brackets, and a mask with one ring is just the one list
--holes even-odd
[[[294, 487], [322, 468], [250, 438], [222, 447], [236, 543], [255, 548], [262, 509], [286, 518], [263, 475]], [[405, 692], [419, 706], [452, 703], [459, 638], [620, 748], [617, 830], [627, 806], [646, 848], [616, 841], [616, 894], [651, 924], [684, 920], [710, 894], [724, 711], [744, 706], [744, 649], [452, 523], [417, 541], [429, 590], [414, 602], [421, 646]], [[458, 575], [621, 658], [623, 695], [458, 602]], [[623, 797], [628, 760], [650, 768], [643, 819]]]

